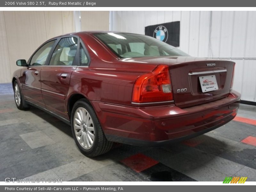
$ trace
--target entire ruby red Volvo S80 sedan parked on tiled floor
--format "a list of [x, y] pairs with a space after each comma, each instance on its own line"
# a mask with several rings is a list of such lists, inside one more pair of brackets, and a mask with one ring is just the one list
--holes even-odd
[[232, 120], [240, 103], [234, 62], [191, 57], [144, 35], [63, 35], [16, 64], [17, 107], [70, 124], [91, 157], [113, 142], [162, 146], [204, 134]]

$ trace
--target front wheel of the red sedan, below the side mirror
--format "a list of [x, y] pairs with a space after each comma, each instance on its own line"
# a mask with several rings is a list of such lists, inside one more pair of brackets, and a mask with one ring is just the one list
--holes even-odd
[[24, 100], [23, 95], [20, 90], [20, 85], [18, 84], [17, 80], [15, 80], [14, 84], [13, 84], [13, 92], [14, 92], [14, 100], [15, 100], [15, 104], [16, 104], [17, 108], [20, 110], [29, 109], [30, 106]]

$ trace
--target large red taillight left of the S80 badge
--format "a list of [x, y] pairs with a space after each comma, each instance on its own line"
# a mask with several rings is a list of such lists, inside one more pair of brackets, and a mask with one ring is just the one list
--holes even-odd
[[172, 100], [172, 84], [168, 65], [158, 65], [152, 72], [140, 76], [133, 86], [132, 102]]

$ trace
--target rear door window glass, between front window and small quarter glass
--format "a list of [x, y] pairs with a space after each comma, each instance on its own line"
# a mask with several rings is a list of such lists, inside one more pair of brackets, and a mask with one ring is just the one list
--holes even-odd
[[54, 52], [49, 65], [75, 65], [73, 63], [77, 51], [77, 38], [65, 37], [60, 40]]

